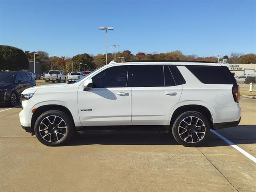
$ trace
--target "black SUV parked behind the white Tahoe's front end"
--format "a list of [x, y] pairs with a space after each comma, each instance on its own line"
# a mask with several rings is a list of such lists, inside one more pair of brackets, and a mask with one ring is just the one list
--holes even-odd
[[17, 99], [26, 88], [36, 86], [28, 72], [0, 72], [0, 102], [15, 106]]

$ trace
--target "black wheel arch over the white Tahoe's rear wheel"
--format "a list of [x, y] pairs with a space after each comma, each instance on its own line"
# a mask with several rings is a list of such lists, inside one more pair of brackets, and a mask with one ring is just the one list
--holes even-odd
[[176, 108], [176, 110], [173, 112], [172, 118], [170, 120], [170, 128], [172, 128], [172, 125], [173, 125], [174, 121], [176, 120], [176, 118], [180, 114], [182, 114], [186, 111], [197, 111], [197, 112], [202, 113], [209, 121], [210, 128], [213, 128], [213, 118], [212, 118], [212, 114], [211, 114], [210, 110], [208, 108], [206, 108], [205, 106], [193, 105], [193, 104], [188, 104], [188, 105], [184, 105], [184, 106], [180, 106], [180, 107]]

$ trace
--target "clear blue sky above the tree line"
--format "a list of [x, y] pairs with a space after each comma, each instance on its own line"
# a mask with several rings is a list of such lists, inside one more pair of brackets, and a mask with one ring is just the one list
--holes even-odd
[[0, 44], [50, 56], [256, 53], [256, 1], [0, 1]]

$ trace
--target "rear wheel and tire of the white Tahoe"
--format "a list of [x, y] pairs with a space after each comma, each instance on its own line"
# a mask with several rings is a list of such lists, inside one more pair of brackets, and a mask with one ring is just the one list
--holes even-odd
[[175, 140], [186, 147], [200, 146], [209, 134], [209, 121], [197, 111], [187, 111], [180, 114], [172, 126], [172, 135]]

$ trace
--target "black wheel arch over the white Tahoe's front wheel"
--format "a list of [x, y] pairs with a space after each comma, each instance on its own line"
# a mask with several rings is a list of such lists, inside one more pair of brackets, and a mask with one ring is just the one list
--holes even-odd
[[40, 107], [36, 108], [35, 112], [33, 113], [32, 118], [31, 118], [32, 135], [34, 135], [34, 126], [35, 126], [37, 118], [42, 113], [44, 113], [46, 111], [49, 111], [49, 110], [60, 110], [62, 112], [65, 112], [66, 114], [68, 114], [68, 116], [71, 117], [72, 123], [73, 123], [74, 128], [75, 128], [74, 118], [73, 118], [72, 113], [70, 112], [70, 110], [68, 108], [66, 108], [65, 106], [62, 106], [62, 105], [49, 104], [49, 105], [43, 105], [43, 106], [40, 106]]

